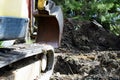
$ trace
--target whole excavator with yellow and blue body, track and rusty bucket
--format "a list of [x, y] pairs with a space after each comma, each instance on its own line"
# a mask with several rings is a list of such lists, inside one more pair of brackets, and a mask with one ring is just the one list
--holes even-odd
[[19, 41], [0, 47], [0, 80], [49, 80], [62, 32], [63, 13], [54, 1], [0, 0], [0, 43]]

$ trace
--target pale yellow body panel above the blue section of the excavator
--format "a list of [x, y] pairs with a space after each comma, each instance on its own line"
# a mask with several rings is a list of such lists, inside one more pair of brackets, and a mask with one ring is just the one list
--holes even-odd
[[26, 0], [0, 0], [0, 16], [28, 18]]

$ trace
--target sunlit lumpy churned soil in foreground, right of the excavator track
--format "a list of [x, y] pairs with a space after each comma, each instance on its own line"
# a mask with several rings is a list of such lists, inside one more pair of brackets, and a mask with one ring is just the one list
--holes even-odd
[[120, 51], [61, 54], [51, 80], [120, 80]]

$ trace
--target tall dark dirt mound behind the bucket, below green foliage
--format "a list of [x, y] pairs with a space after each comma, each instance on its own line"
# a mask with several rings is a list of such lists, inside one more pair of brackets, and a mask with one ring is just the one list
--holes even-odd
[[69, 51], [116, 50], [120, 39], [96, 21], [65, 20], [61, 47]]

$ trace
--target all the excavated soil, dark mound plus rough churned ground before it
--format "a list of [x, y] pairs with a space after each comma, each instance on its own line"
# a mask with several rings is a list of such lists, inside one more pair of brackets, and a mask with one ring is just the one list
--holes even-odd
[[66, 19], [50, 80], [120, 80], [119, 44], [96, 21]]

